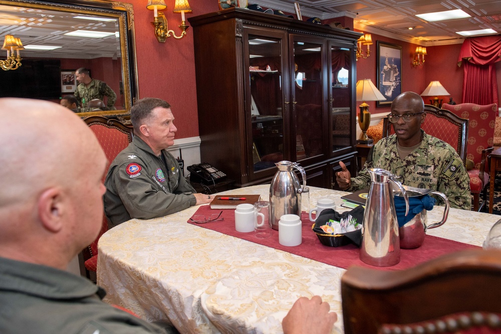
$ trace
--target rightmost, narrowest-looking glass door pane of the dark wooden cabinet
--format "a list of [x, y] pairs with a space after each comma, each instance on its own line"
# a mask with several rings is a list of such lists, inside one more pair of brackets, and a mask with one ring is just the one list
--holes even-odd
[[355, 81], [351, 73], [352, 50], [331, 45], [330, 51], [332, 151], [335, 152], [352, 145], [351, 106]]

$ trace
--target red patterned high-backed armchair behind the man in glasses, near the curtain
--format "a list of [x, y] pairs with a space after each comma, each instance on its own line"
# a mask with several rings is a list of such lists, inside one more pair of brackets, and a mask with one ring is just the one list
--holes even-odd
[[[466, 159], [473, 161], [473, 168], [468, 168], [473, 210], [480, 211], [487, 199], [487, 185], [489, 183], [487, 157], [492, 151], [494, 141], [497, 105], [495, 103], [485, 106], [473, 103], [458, 105], [444, 103], [442, 109], [450, 110], [459, 117], [469, 119]], [[482, 194], [481, 202], [480, 194]]]

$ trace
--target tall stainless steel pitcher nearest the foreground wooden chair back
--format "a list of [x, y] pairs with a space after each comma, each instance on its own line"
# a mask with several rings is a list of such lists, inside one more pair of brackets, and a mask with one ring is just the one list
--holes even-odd
[[365, 205], [360, 259], [378, 267], [395, 265], [400, 262], [400, 239], [392, 183], [405, 199], [405, 215], [409, 213], [409, 199], [395, 175], [380, 168], [368, 172], [372, 183]]

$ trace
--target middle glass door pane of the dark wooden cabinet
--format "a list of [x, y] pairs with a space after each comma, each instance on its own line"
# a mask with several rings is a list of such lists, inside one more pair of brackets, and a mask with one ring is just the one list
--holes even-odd
[[[322, 69], [324, 43], [302, 36], [291, 36], [291, 92], [296, 139], [296, 161], [324, 155], [324, 83]], [[325, 129], [325, 130], [324, 130]]]

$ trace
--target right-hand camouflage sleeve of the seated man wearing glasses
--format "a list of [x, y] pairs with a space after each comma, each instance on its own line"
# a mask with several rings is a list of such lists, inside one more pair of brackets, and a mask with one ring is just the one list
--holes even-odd
[[457, 154], [450, 154], [440, 171], [438, 191], [444, 193], [451, 208], [471, 210], [469, 176]]

